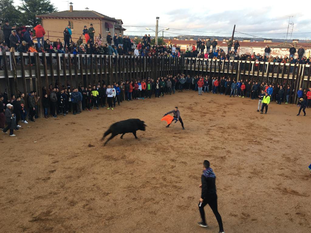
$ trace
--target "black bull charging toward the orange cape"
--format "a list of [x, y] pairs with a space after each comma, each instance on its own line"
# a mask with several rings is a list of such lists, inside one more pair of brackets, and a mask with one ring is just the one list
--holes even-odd
[[118, 134], [122, 134], [121, 135], [121, 139], [122, 139], [123, 135], [126, 133], [133, 133], [133, 135], [137, 139], [136, 131], [137, 130], [145, 131], [145, 126], [146, 126], [145, 122], [139, 119], [128, 119], [124, 121], [118, 121], [118, 122], [113, 123], [109, 127], [109, 129], [104, 133], [101, 140], [103, 141], [107, 135], [111, 134], [110, 138], [108, 138], [107, 141], [104, 143], [104, 146], [105, 146], [106, 143], [110, 139], [113, 139]]

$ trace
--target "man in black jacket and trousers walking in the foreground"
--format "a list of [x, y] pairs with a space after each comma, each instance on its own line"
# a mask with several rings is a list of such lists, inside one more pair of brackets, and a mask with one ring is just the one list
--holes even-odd
[[199, 188], [202, 189], [201, 198], [199, 202], [199, 210], [202, 218], [202, 222], [198, 222], [197, 224], [202, 227], [207, 227], [205, 221], [205, 212], [204, 207], [209, 204], [211, 207], [218, 225], [219, 225], [219, 233], [224, 233], [224, 228], [222, 226], [222, 219], [217, 209], [217, 194], [216, 194], [216, 175], [213, 172], [213, 169], [210, 168], [210, 162], [204, 160], [203, 162], [203, 174], [201, 176], [202, 184], [199, 185]]

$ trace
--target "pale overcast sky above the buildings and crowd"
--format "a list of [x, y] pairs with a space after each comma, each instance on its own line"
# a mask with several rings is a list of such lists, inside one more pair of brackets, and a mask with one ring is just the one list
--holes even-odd
[[[170, 28], [164, 31], [165, 36], [175, 37], [178, 34], [230, 36], [234, 24], [236, 24], [235, 36], [252, 37], [238, 34], [238, 32], [242, 32], [264, 38], [285, 39], [289, 21], [288, 16], [294, 16], [290, 20], [294, 23], [291, 39], [311, 39], [311, 33], [301, 34], [302, 32], [311, 32], [311, 18], [308, 13], [311, 8], [310, 1], [299, 1], [299, 4], [271, 0], [261, 0], [260, 2], [244, 0], [191, 2], [179, 0], [158, 1], [156, 4], [153, 4], [152, 1], [145, 1], [146, 4], [142, 7], [138, 5], [144, 1], [119, 0], [116, 2], [110, 1], [109, 4], [106, 1], [71, 1], [74, 10], [84, 10], [84, 8], [88, 7], [90, 10], [109, 17], [121, 18], [123, 27], [127, 29], [125, 34], [131, 35], [154, 35], [153, 31], [147, 31], [145, 28], [155, 30], [156, 17], [158, 16], [160, 17], [159, 30]], [[58, 8], [58, 11], [68, 9], [67, 2], [62, 2], [62, 0], [51, 0], [51, 2]], [[210, 9], [211, 6], [214, 7]], [[290, 32], [291, 27], [292, 25], [290, 25]]]

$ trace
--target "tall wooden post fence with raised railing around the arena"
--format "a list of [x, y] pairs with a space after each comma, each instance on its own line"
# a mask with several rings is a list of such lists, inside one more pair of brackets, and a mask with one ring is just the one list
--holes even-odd
[[[3, 71], [0, 71], [0, 92], [11, 93], [36, 90], [42, 97], [42, 87], [58, 80], [59, 84], [71, 87], [112, 84], [119, 80], [156, 79], [165, 75], [185, 74], [203, 76], [230, 76], [236, 80], [248, 79], [257, 82], [279, 83], [295, 90], [310, 85], [310, 65], [275, 62], [249, 62], [183, 57], [137, 57], [108, 55], [76, 55], [61, 53], [13, 53], [0, 52]], [[33, 65], [31, 65], [33, 64]], [[1, 82], [1, 80], [5, 80]], [[5, 86], [5, 88], [3, 88]], [[41, 101], [39, 112], [42, 116]]]

